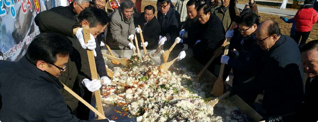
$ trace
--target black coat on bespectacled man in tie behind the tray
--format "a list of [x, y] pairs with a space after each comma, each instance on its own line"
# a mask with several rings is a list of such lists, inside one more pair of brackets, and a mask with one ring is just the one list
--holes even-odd
[[[179, 37], [180, 14], [170, 6], [165, 17], [163, 17], [160, 11], [157, 12], [157, 17], [161, 26], [161, 32], [159, 35], [167, 38], [167, 41], [163, 45], [163, 49], [168, 50], [175, 42], [176, 37]], [[176, 44], [174, 49], [183, 49], [183, 44]]]

